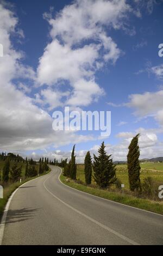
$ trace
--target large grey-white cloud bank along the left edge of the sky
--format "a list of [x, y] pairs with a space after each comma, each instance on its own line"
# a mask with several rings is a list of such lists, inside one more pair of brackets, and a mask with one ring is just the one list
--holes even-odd
[[[59, 147], [71, 141], [83, 142], [92, 136], [80, 136], [74, 132], [54, 132], [52, 117], [34, 104], [34, 99], [27, 96], [32, 87], [23, 82], [13, 82], [17, 78], [26, 81], [35, 80], [34, 70], [22, 64], [23, 53], [14, 49], [11, 34], [17, 34], [18, 19], [2, 3], [0, 4], [0, 38], [4, 46], [4, 57], [0, 58], [0, 148], [3, 150], [33, 150], [48, 145]], [[41, 94], [41, 98], [40, 97]], [[36, 99], [49, 109], [60, 105], [60, 97], [65, 93], [42, 89]], [[58, 97], [60, 95], [60, 97]]]

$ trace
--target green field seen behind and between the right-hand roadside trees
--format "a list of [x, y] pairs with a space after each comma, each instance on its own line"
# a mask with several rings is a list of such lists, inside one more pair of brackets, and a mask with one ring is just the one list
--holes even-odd
[[[129, 182], [128, 182], [127, 164], [118, 164], [116, 166], [116, 175], [117, 175], [117, 178], [121, 180], [122, 184], [124, 184], [125, 188], [128, 190]], [[147, 176], [151, 176], [156, 182], [163, 184], [163, 163], [141, 164], [141, 172], [140, 172], [141, 181], [147, 178]], [[80, 179], [83, 182], [85, 182], [84, 164], [77, 165], [77, 179]], [[92, 180], [92, 184], [93, 183], [95, 184], [95, 182]]]

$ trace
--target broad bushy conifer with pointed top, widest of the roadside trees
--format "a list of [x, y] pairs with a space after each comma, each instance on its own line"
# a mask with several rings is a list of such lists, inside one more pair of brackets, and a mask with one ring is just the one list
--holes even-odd
[[98, 149], [99, 156], [94, 156], [93, 171], [94, 179], [98, 186], [106, 188], [111, 186], [116, 181], [116, 169], [112, 163], [111, 155], [107, 155], [104, 142]]

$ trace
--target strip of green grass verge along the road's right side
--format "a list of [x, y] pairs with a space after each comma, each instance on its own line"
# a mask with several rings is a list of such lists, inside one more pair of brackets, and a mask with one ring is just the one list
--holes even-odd
[[142, 198], [137, 198], [133, 197], [127, 194], [122, 194], [119, 192], [110, 192], [106, 190], [101, 190], [99, 188], [93, 188], [89, 186], [85, 186], [82, 184], [77, 184], [73, 180], [69, 180], [66, 182], [66, 177], [64, 175], [60, 175], [60, 180], [73, 188], [76, 188], [77, 190], [93, 194], [94, 196], [102, 197], [105, 199], [109, 199], [121, 204], [126, 204], [129, 206], [133, 206], [135, 208], [147, 210], [147, 211], [152, 211], [155, 212], [156, 214], [162, 214], [163, 215], [163, 203], [162, 202], [153, 202], [152, 200], [148, 199], [142, 199]]

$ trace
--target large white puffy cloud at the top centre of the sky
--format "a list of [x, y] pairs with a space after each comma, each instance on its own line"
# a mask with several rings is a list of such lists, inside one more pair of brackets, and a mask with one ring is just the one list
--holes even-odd
[[76, 0], [55, 17], [44, 14], [51, 25], [51, 42], [40, 57], [37, 84], [56, 87], [65, 81], [71, 87], [69, 105], [87, 106], [97, 100], [104, 91], [95, 80], [96, 71], [115, 64], [123, 54], [106, 31], [125, 29], [131, 11], [125, 0]]

